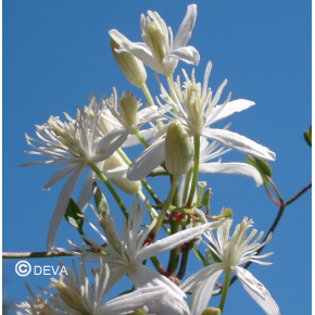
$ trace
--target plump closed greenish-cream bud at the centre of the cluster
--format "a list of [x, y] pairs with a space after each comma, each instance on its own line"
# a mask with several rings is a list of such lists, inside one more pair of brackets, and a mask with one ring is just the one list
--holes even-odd
[[192, 164], [193, 150], [180, 123], [169, 124], [165, 139], [165, 166], [171, 174], [184, 175]]

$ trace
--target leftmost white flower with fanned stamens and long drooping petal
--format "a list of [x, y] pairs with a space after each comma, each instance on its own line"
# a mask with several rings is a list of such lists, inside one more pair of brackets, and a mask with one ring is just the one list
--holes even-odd
[[[49, 161], [25, 163], [21, 166], [38, 164], [66, 164], [59, 169], [43, 186], [49, 190], [56, 181], [72, 174], [64, 184], [59, 196], [52, 219], [50, 222], [47, 248], [52, 250], [55, 243], [55, 234], [62, 222], [66, 206], [76, 184], [87, 168], [88, 163], [100, 163], [111, 156], [127, 139], [129, 130], [112, 130], [103, 138], [98, 131], [98, 121], [101, 114], [102, 99], [99, 101], [97, 111], [91, 117], [85, 115], [81, 110], [77, 111], [76, 121], [65, 114], [67, 123], [62, 123], [59, 117], [51, 116], [47, 124], [36, 126], [36, 135], [39, 138], [30, 138], [26, 135], [27, 143], [36, 151], [26, 151], [29, 154], [41, 155]], [[91, 102], [94, 102], [94, 98]], [[91, 104], [90, 104], [91, 108]], [[38, 142], [42, 147], [36, 147]]]

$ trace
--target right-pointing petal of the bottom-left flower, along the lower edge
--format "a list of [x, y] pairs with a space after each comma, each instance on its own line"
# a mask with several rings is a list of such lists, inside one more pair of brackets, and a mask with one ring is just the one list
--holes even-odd
[[135, 312], [137, 308], [161, 300], [167, 290], [162, 286], [139, 289], [136, 292], [115, 298], [102, 305], [98, 311], [100, 314], [119, 315]]

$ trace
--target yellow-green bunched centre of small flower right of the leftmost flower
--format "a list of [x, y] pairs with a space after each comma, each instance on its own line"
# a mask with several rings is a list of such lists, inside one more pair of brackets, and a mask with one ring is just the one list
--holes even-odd
[[138, 125], [138, 104], [137, 99], [131, 92], [123, 93], [118, 101], [119, 115], [124, 121], [125, 127], [130, 128], [131, 126]]

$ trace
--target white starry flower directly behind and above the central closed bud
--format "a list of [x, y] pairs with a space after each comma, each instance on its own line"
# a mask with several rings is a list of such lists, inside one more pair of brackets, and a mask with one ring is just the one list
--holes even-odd
[[[243, 99], [229, 102], [229, 94], [224, 104], [217, 105], [227, 80], [222, 84], [212, 99], [212, 91], [210, 88], [207, 89], [211, 67], [212, 63], [209, 62], [205, 70], [203, 87], [201, 87], [200, 83], [196, 83], [193, 71], [191, 80], [186, 72], [182, 71], [186, 77], [184, 90], [180, 88], [179, 77], [174, 84], [168, 80], [175, 101], [161, 85], [161, 98], [166, 102], [166, 105], [163, 105], [160, 102], [160, 106], [166, 106], [165, 112], [168, 111], [169, 106], [172, 106], [173, 111], [168, 111], [168, 113], [184, 126], [190, 137], [194, 135], [203, 136], [223, 144], [224, 147], [237, 150], [248, 155], [275, 161], [276, 154], [268, 148], [225, 128], [217, 129], [210, 127], [210, 125], [222, 121], [234, 113], [244, 111], [255, 104], [252, 101]], [[150, 148], [142, 152], [142, 154], [133, 162], [128, 169], [128, 179], [138, 180], [144, 178], [165, 160], [165, 139], [163, 139], [162, 136], [167, 131], [167, 128], [168, 125], [165, 125], [160, 129], [153, 137]], [[148, 161], [150, 161], [150, 163]], [[217, 169], [219, 169], [219, 167], [217, 167]]]

